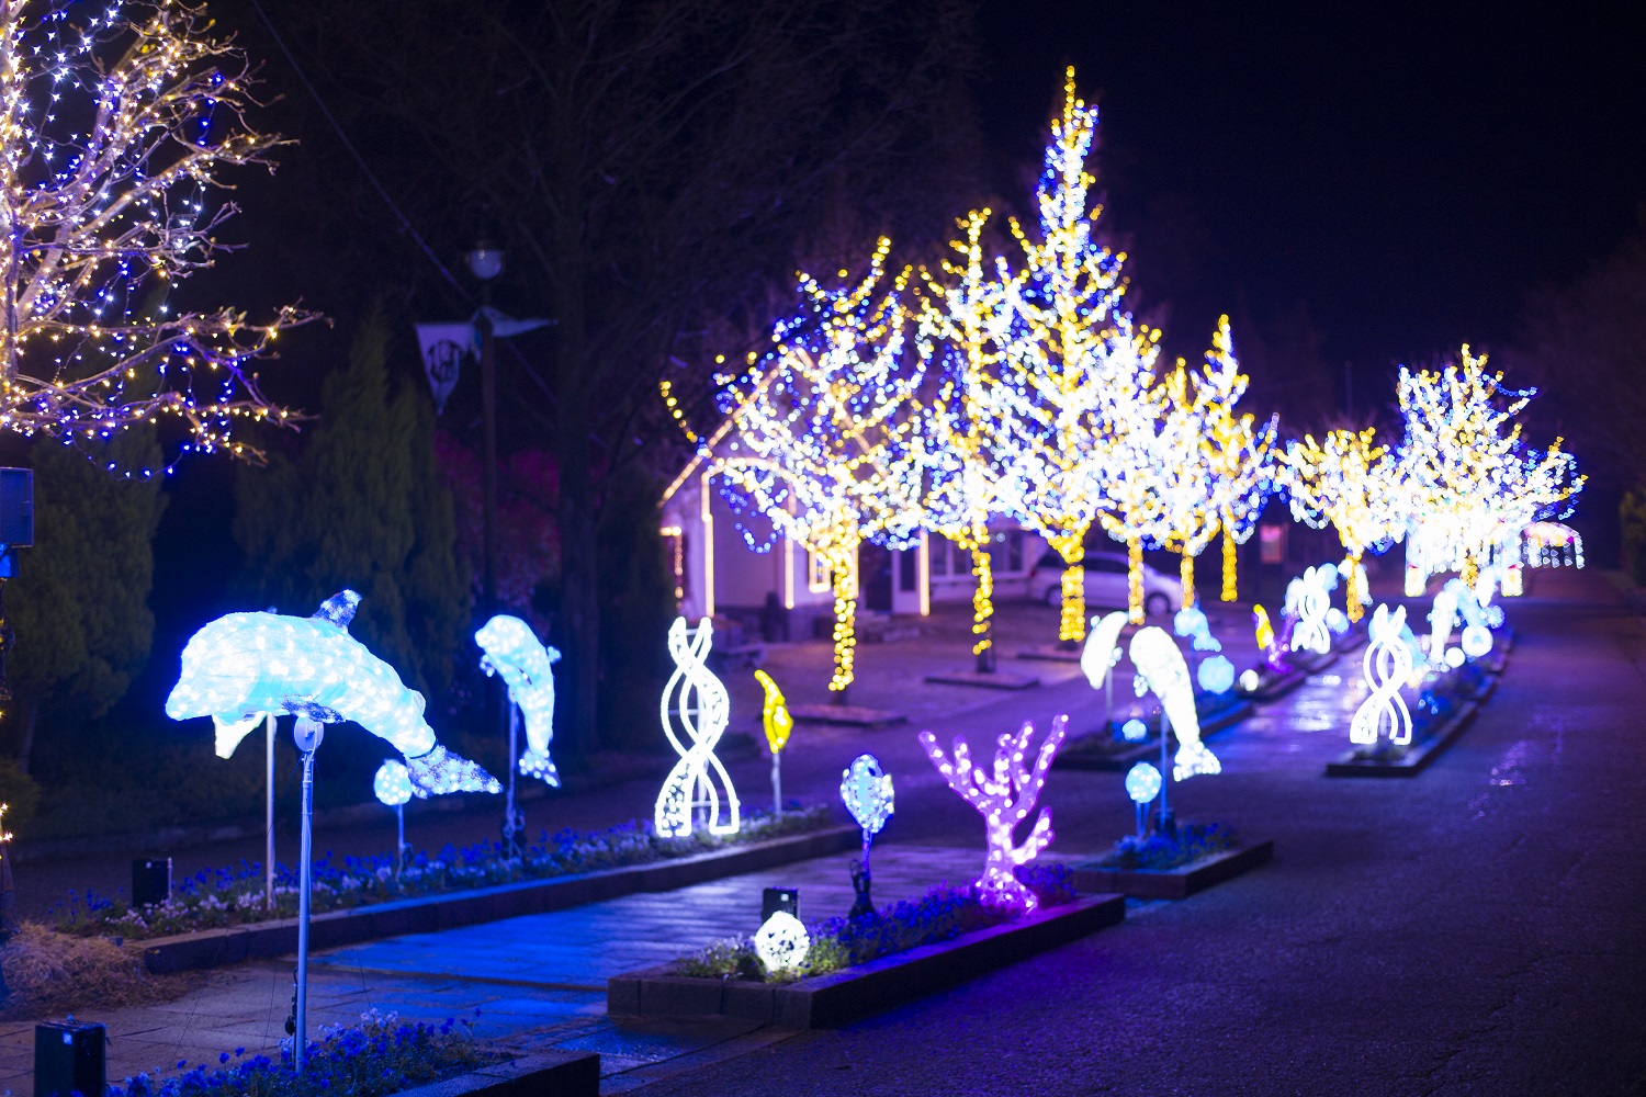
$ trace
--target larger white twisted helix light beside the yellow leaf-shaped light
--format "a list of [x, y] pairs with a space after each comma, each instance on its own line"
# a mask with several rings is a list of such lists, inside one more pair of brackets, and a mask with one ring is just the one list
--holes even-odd
[[[691, 834], [691, 812], [704, 811], [709, 834], [736, 834], [741, 826], [737, 789], [731, 775], [714, 757], [714, 747], [726, 734], [731, 701], [726, 686], [708, 668], [713, 625], [704, 617], [695, 633], [686, 633], [686, 618], [677, 617], [668, 627], [668, 655], [675, 660], [675, 673], [663, 686], [660, 714], [663, 735], [680, 755], [680, 761], [663, 778], [663, 791], [657, 794], [653, 824], [663, 837]], [[680, 704], [668, 707], [668, 699], [680, 691]], [[680, 729], [675, 729], [678, 719]], [[719, 785], [716, 785], [716, 780]], [[721, 793], [726, 789], [726, 816], [721, 819]]]

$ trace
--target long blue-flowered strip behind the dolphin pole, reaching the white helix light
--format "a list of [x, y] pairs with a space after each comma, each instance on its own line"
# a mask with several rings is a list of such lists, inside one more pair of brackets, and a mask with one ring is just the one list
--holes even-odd
[[[505, 857], [495, 842], [464, 849], [446, 845], [438, 857], [410, 857], [400, 877], [395, 877], [393, 857], [346, 857], [339, 865], [328, 854], [314, 862], [314, 913], [691, 857], [816, 831], [828, 826], [828, 816], [830, 809], [825, 806], [785, 811], [782, 816], [749, 812], [742, 819], [742, 829], [728, 837], [695, 832], [691, 837], [665, 839], [657, 835], [650, 822], [625, 822], [589, 832], [561, 831], [555, 835], [543, 832], [542, 840], [527, 847], [520, 857]], [[262, 863], [242, 862], [237, 870], [194, 873], [178, 885], [171, 901], [153, 906], [133, 908], [120, 898], [91, 891], [79, 900], [71, 891], [66, 910], [56, 918], [56, 928], [81, 936], [142, 941], [295, 918], [296, 910], [295, 867], [277, 868], [275, 910], [270, 911], [263, 903]]]

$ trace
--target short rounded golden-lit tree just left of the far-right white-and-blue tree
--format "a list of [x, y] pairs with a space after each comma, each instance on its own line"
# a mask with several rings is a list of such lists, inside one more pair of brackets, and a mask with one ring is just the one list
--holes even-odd
[[1322, 442], [1305, 434], [1281, 454], [1292, 516], [1315, 530], [1327, 523], [1346, 553], [1348, 618], [1358, 622], [1368, 590], [1361, 587], [1361, 556], [1406, 533], [1399, 467], [1376, 428], [1328, 431]]

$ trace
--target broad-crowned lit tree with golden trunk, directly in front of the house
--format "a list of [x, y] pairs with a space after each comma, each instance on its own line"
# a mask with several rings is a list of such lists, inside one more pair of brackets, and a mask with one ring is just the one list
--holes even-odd
[[914, 319], [902, 301], [912, 271], [887, 281], [881, 240], [856, 285], [825, 288], [800, 276], [802, 309], [772, 331], [774, 347], [728, 390], [731, 431], [713, 464], [739, 508], [764, 515], [815, 553], [835, 594], [835, 673], [854, 678], [858, 549], [907, 541], [922, 523], [930, 465]]

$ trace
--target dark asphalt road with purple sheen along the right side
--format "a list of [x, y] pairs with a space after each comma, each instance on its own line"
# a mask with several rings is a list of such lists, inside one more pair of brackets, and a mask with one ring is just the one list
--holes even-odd
[[[1254, 727], [1179, 786], [1185, 812], [1276, 837], [1272, 865], [647, 1094], [1646, 1092], [1646, 628], [1597, 576], [1539, 594], [1498, 694], [1419, 778], [1325, 780], [1340, 732]], [[1058, 776], [1058, 844], [1113, 832], [1083, 804], [1114, 776]]]

